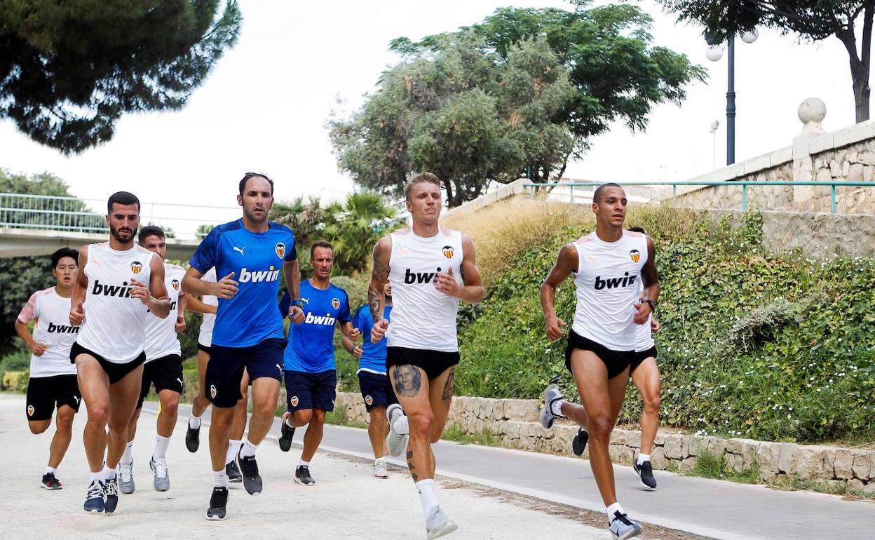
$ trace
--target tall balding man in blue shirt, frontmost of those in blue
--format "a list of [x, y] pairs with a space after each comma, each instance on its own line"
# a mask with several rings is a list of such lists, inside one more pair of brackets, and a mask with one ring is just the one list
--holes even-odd
[[[276, 312], [280, 271], [290, 294], [290, 317], [304, 320], [297, 267], [295, 235], [284, 225], [268, 221], [273, 206], [273, 180], [248, 172], [240, 181], [237, 204], [243, 217], [214, 228], [192, 256], [183, 278], [187, 294], [219, 298], [213, 343], [204, 391], [213, 403], [210, 458], [214, 488], [207, 519], [225, 519], [228, 477], [225, 456], [234, 408], [241, 398], [243, 370], [252, 381], [253, 413], [248, 438], [237, 452], [243, 487], [249, 494], [262, 490], [255, 449], [273, 424], [276, 398], [283, 376], [283, 317]], [[201, 279], [215, 267], [217, 282]], [[236, 278], [236, 280], [235, 280]]]

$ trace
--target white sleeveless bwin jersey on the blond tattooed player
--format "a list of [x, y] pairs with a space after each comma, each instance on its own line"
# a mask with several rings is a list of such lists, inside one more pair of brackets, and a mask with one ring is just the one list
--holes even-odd
[[462, 233], [442, 227], [430, 238], [417, 236], [412, 229], [389, 236], [393, 307], [387, 346], [458, 351], [458, 298], [437, 291], [434, 278], [437, 272], [452, 269], [456, 283], [462, 283]]

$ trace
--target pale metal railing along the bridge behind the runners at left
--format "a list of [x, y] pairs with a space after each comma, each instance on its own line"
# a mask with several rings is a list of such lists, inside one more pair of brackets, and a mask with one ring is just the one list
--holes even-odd
[[[0, 193], [0, 228], [106, 233], [106, 200]], [[210, 226], [240, 217], [240, 207], [209, 207], [169, 202], [140, 204], [140, 226], [172, 230], [180, 239], [199, 239]]]

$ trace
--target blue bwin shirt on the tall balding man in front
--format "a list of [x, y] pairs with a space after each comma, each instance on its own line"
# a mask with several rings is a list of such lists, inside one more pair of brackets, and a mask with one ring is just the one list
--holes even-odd
[[190, 261], [206, 274], [215, 267], [221, 279], [234, 272], [237, 294], [219, 298], [213, 345], [250, 347], [269, 338], [283, 338], [283, 318], [276, 311], [283, 262], [297, 259], [295, 235], [290, 228], [269, 222], [254, 233], [243, 221], [231, 221], [210, 231]]

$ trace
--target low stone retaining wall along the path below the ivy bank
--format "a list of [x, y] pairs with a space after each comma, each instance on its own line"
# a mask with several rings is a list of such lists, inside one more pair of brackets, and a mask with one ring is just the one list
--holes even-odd
[[[338, 392], [335, 406], [345, 410], [347, 418], [367, 422], [360, 394]], [[571, 438], [577, 426], [562, 422], [545, 430], [538, 423], [539, 410], [535, 400], [458, 396], [453, 398], [448, 424], [469, 434], [491, 431], [508, 448], [572, 456]], [[616, 463], [632, 465], [640, 447], [641, 431], [613, 432], [610, 452]], [[651, 459], [656, 469], [688, 472], [704, 452], [722, 456], [737, 473], [756, 469], [760, 479], [769, 483], [798, 478], [875, 494], [875, 452], [870, 450], [658, 433]]]

